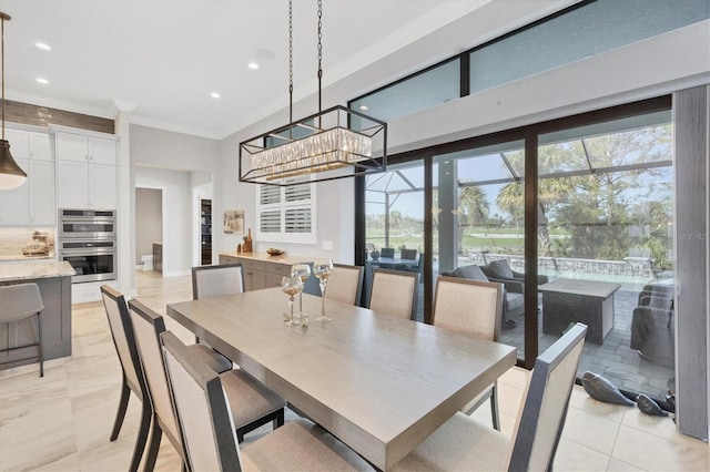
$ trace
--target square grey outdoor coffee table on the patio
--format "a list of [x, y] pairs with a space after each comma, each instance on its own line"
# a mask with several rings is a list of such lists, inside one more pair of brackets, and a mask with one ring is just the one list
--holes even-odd
[[620, 284], [560, 278], [545, 285], [542, 332], [561, 336], [570, 322], [587, 325], [587, 340], [601, 345], [613, 328], [613, 293]]

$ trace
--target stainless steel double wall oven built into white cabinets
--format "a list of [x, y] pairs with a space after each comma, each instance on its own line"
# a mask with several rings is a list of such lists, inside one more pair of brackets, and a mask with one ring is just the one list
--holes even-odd
[[77, 271], [73, 284], [115, 279], [115, 211], [60, 209], [57, 258]]

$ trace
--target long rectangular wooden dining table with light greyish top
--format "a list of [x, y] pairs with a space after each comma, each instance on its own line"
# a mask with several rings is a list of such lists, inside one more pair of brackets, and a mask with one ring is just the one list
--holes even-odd
[[335, 300], [331, 321], [315, 321], [322, 299], [311, 295], [307, 326], [288, 327], [286, 300], [270, 288], [170, 304], [168, 315], [381, 470], [516, 361], [510, 346]]

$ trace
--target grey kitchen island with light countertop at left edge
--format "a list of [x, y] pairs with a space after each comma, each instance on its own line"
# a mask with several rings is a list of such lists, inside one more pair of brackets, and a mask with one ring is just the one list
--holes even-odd
[[[71, 356], [71, 277], [67, 261], [0, 264], [0, 286], [37, 284], [42, 295], [42, 349], [44, 360]], [[2, 300], [0, 300], [2, 302]], [[37, 320], [0, 325], [0, 370], [38, 362]], [[8, 345], [9, 338], [9, 345]], [[9, 350], [8, 350], [9, 348]]]

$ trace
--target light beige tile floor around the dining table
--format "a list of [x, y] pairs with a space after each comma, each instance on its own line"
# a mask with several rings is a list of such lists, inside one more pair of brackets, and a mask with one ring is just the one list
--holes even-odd
[[[165, 304], [192, 297], [189, 277], [163, 279], [139, 273], [139, 298], [159, 312]], [[138, 430], [138, 401], [131, 399], [119, 439], [109, 442], [121, 382], [120, 365], [101, 304], [75, 305], [73, 353], [37, 366], [0, 371], [0, 472], [124, 471]], [[173, 320], [169, 329], [192, 339]], [[504, 432], [510, 434], [528, 373], [514, 368], [499, 380]], [[473, 413], [490, 421], [487, 406]], [[247, 435], [253, 441], [268, 427]], [[180, 458], [163, 441], [156, 470], [179, 471]], [[670, 418], [600, 403], [575, 387], [555, 461], [558, 471], [708, 471], [710, 447], [679, 434]]]

